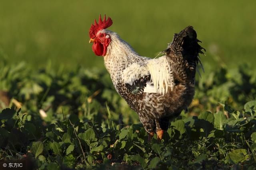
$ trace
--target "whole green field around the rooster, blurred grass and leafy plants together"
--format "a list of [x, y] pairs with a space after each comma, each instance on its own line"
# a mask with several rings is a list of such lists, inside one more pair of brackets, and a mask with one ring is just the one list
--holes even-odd
[[[2, 0], [0, 169], [12, 160], [39, 170], [255, 170], [255, 6]], [[161, 142], [155, 135], [148, 143], [88, 44], [99, 14], [144, 56], [155, 57], [187, 25], [207, 49], [189, 112], [171, 121]]]

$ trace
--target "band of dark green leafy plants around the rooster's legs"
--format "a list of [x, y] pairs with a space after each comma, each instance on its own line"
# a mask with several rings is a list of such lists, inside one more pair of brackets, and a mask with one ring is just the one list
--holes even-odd
[[[251, 78], [252, 73], [239, 69], [240, 78]], [[251, 100], [256, 93], [242, 88], [256, 86], [224, 68], [212, 72], [212, 82], [200, 80], [190, 114], [182, 112], [163, 140], [155, 135], [151, 143], [106, 72], [30, 73], [25, 65], [1, 70], [10, 104], [0, 111], [0, 159], [31, 160], [40, 170], [256, 166], [256, 102]]]

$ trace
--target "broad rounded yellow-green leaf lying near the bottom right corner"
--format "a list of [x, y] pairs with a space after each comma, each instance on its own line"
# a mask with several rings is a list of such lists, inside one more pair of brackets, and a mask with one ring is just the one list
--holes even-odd
[[246, 149], [236, 149], [232, 150], [226, 156], [226, 160], [230, 161], [231, 163], [238, 164], [239, 162], [244, 162], [246, 159], [250, 158], [247, 154]]

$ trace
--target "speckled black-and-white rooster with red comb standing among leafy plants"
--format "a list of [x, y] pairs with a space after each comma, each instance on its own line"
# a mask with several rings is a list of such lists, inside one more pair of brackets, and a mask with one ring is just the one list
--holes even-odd
[[104, 58], [116, 91], [138, 113], [148, 133], [148, 140], [156, 132], [161, 140], [169, 120], [187, 110], [195, 92], [198, 53], [203, 53], [192, 26], [174, 34], [172, 43], [162, 51], [162, 57], [151, 59], [138, 55], [115, 32], [106, 30], [111, 18], [101, 16], [91, 25], [89, 43], [92, 51]]

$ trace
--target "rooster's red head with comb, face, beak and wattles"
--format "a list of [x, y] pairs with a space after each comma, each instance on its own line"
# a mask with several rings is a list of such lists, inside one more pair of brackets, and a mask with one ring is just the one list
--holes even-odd
[[105, 15], [103, 21], [100, 16], [98, 23], [96, 20], [94, 20], [94, 25], [92, 24], [90, 27], [89, 43], [93, 43], [92, 51], [98, 56], [105, 56], [107, 53], [107, 47], [111, 41], [111, 38], [110, 35], [104, 31], [104, 29], [110, 27], [112, 23], [111, 18], [108, 17], [108, 20], [106, 20]]

